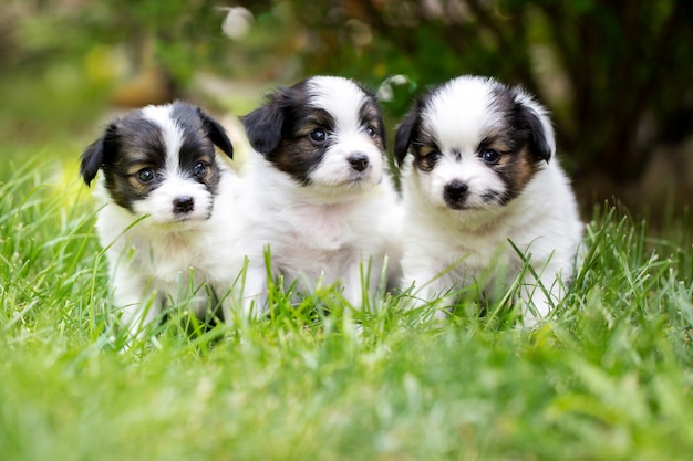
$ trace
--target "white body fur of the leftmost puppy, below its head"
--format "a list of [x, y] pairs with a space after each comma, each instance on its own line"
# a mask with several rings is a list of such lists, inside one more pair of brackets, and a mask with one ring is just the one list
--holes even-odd
[[[107, 248], [114, 305], [133, 333], [161, 315], [165, 304], [192, 300], [196, 313], [204, 315], [209, 307], [204, 283], [220, 300], [229, 295], [236, 269], [230, 253], [237, 226], [236, 192], [234, 174], [226, 170], [223, 175], [215, 197], [218, 206], [209, 219], [168, 223], [153, 217], [134, 223], [137, 218], [111, 202], [100, 181], [97, 197], [105, 206], [96, 231]], [[229, 302], [221, 305], [225, 318], [230, 318]]]

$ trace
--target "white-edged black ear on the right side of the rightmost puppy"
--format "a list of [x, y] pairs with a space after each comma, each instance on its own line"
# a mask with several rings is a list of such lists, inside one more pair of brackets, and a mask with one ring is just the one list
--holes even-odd
[[546, 163], [556, 154], [556, 138], [548, 111], [531, 96], [515, 88], [520, 128], [529, 132], [529, 150]]

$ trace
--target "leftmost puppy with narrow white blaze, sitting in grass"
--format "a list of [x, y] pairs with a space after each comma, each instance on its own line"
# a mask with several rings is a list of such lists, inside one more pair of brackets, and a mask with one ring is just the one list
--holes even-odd
[[176, 102], [115, 119], [82, 154], [87, 186], [102, 171], [96, 230], [113, 301], [133, 333], [167, 303], [193, 300], [204, 315], [232, 284], [235, 177], [215, 146], [232, 157], [216, 121]]

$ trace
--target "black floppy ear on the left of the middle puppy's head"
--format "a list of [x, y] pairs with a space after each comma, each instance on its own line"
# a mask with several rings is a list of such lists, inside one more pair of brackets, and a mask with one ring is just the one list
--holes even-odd
[[266, 105], [240, 117], [240, 121], [246, 128], [250, 145], [258, 153], [267, 156], [279, 146], [283, 111], [277, 95], [271, 96]]

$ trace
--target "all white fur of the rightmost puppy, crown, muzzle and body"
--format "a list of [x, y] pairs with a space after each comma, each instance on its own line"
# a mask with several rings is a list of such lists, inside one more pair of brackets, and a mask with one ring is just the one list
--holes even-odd
[[[531, 324], [563, 296], [563, 287], [573, 275], [583, 226], [569, 181], [555, 157], [505, 206], [484, 202], [482, 193], [505, 191], [504, 181], [476, 153], [484, 129], [499, 122], [499, 113], [489, 109], [494, 102], [489, 85], [485, 78], [452, 81], [433, 96], [423, 114], [424, 126], [445, 155], [430, 172], [418, 171], [413, 156], [406, 157], [402, 286], [414, 285], [414, 304], [439, 300], [442, 307], [454, 304], [453, 292], [475, 282], [479, 290], [492, 291], [492, 296], [504, 294], [523, 270], [521, 256], [511, 241], [529, 258], [539, 285], [548, 292], [547, 296], [529, 271], [519, 281], [523, 314]], [[523, 97], [539, 114], [552, 151], [554, 132], [546, 112], [529, 96]], [[453, 149], [459, 151], [456, 159], [451, 155]], [[469, 188], [466, 209], [445, 205], [444, 187], [454, 179]]]

